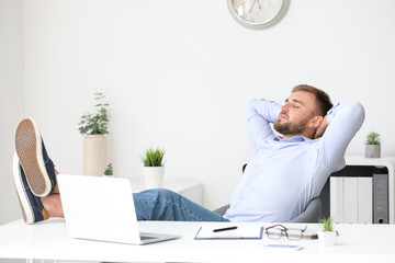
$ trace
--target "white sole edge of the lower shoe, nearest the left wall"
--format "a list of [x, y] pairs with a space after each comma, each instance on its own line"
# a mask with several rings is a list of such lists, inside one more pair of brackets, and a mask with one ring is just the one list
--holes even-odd
[[31, 203], [29, 202], [27, 194], [23, 187], [23, 182], [20, 175], [20, 162], [16, 153], [13, 157], [12, 161], [12, 172], [14, 179], [14, 185], [16, 188], [18, 201], [21, 206], [23, 220], [26, 224], [33, 224], [35, 221], [34, 213]]

